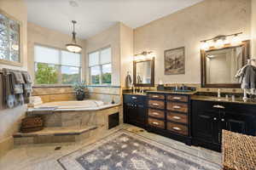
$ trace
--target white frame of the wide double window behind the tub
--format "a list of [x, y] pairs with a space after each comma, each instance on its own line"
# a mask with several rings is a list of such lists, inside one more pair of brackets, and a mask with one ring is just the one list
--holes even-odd
[[[52, 48], [52, 49], [55, 49], [58, 51], [58, 58], [59, 58], [59, 64], [51, 64], [51, 63], [44, 63], [44, 62], [37, 62], [35, 61], [35, 48], [36, 46], [38, 47], [42, 47], [42, 48]], [[55, 47], [52, 47], [52, 46], [49, 46], [49, 45], [43, 45], [43, 44], [40, 44], [40, 43], [34, 43], [34, 46], [33, 46], [33, 50], [34, 50], [34, 57], [33, 57], [33, 66], [34, 66], [34, 82], [35, 82], [35, 86], [36, 87], [62, 87], [62, 86], [67, 86], [67, 87], [71, 87], [73, 84], [63, 84], [62, 83], [62, 74], [61, 74], [61, 66], [68, 66], [68, 67], [76, 67], [76, 68], [79, 68], [79, 82], [82, 82], [83, 80], [83, 77], [82, 77], [82, 53], [76, 53], [76, 54], [79, 54], [80, 55], [80, 59], [79, 59], [79, 62], [80, 62], [80, 65], [79, 66], [73, 66], [73, 65], [61, 65], [61, 51], [66, 51], [68, 53], [72, 53], [70, 51], [68, 51], [67, 49], [64, 49], [64, 48], [55, 48]], [[41, 64], [46, 64], [46, 65], [55, 65], [57, 67], [57, 71], [58, 71], [58, 82], [55, 83], [55, 84], [38, 84], [36, 82], [36, 64], [38, 63], [41, 63]]]

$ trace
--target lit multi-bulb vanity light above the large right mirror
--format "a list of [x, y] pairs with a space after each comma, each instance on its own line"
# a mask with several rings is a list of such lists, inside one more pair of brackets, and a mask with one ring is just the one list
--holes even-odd
[[[209, 48], [223, 48], [225, 45], [232, 45], [232, 46], [238, 46], [241, 44], [241, 41], [238, 37], [238, 35], [242, 34], [242, 32], [238, 32], [236, 34], [230, 34], [230, 35], [220, 35], [217, 37], [213, 37], [207, 40], [201, 41], [201, 49], [207, 50]], [[232, 37], [232, 40], [228, 39], [229, 37]], [[209, 44], [212, 42], [212, 46]]]

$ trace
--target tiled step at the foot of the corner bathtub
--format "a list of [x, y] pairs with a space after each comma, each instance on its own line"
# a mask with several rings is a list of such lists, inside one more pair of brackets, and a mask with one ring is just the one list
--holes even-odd
[[44, 127], [34, 133], [15, 133], [15, 144], [46, 144], [77, 142], [90, 137], [96, 126], [86, 127]]

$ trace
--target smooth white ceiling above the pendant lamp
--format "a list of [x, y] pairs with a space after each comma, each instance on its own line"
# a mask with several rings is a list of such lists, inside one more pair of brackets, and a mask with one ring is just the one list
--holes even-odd
[[28, 21], [71, 34], [77, 20], [78, 37], [87, 38], [118, 21], [137, 28], [203, 0], [26, 0]]

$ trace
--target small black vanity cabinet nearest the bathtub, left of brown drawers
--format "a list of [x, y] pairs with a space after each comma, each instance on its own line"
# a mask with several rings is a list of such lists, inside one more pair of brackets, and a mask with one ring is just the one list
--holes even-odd
[[146, 96], [124, 94], [124, 122], [137, 127], [146, 125]]

